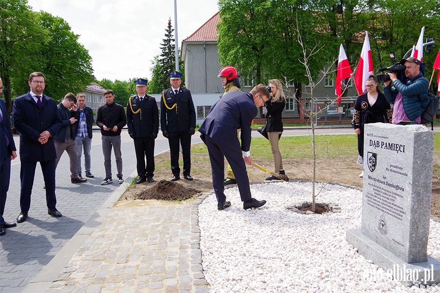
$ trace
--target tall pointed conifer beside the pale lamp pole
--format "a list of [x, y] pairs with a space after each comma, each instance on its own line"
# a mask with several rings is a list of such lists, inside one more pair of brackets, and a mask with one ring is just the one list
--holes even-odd
[[[171, 26], [171, 20], [168, 20], [168, 27], [165, 30], [165, 39], [162, 39], [160, 49], [162, 53], [154, 56], [152, 61], [153, 67], [151, 68], [152, 78], [148, 83], [148, 93], [158, 94], [164, 89], [169, 88], [170, 85], [170, 73], [176, 70], [176, 46], [174, 45], [175, 39], [173, 39], [174, 29]], [[179, 72], [184, 73], [183, 62], [179, 63]], [[184, 76], [182, 76], [184, 81]]]

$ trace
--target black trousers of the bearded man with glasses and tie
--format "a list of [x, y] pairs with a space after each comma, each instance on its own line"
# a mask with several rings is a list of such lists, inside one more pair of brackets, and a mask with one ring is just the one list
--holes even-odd
[[[28, 211], [30, 208], [30, 196], [32, 187], [34, 185], [35, 168], [37, 162], [21, 162], [20, 168], [20, 208]], [[44, 185], [46, 187], [46, 204], [47, 208], [53, 209], [57, 204], [55, 196], [55, 160], [40, 162], [41, 170], [43, 172]]]

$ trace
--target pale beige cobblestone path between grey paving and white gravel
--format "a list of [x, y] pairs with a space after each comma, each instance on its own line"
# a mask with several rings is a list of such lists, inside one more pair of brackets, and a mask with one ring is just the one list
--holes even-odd
[[182, 205], [114, 206], [46, 293], [207, 293], [197, 210], [207, 194]]

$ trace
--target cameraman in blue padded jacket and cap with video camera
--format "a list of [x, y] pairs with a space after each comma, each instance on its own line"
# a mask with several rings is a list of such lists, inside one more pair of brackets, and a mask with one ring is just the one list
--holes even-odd
[[[400, 60], [405, 65], [406, 82], [402, 83], [396, 73], [387, 73], [391, 81], [384, 83], [383, 92], [393, 103], [393, 124], [420, 124], [420, 115], [429, 103], [428, 80], [420, 72], [420, 61], [414, 57]], [[391, 87], [392, 84], [394, 88]]]

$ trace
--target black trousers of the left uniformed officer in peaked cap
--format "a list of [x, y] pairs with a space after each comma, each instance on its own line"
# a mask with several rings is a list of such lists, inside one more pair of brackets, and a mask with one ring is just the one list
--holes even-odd
[[[135, 137], [134, 151], [136, 153], [137, 175], [139, 177], [154, 176], [154, 139], [151, 137]], [[147, 159], [147, 165], [145, 165]]]

